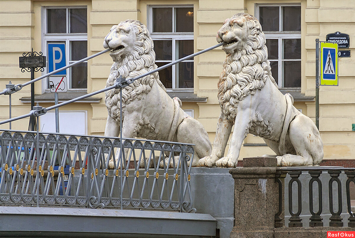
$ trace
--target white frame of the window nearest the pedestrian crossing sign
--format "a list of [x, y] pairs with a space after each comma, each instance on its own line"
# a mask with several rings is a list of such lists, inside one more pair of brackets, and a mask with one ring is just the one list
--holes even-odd
[[[279, 31], [263, 31], [265, 34], [266, 40], [268, 39], [278, 39], [278, 60], [270, 60], [270, 62], [278, 62], [278, 78], [275, 78], [277, 81], [278, 86], [280, 89], [301, 89], [300, 87], [283, 87], [284, 86], [284, 71], [283, 71], [283, 62], [285, 61], [301, 61], [302, 54], [300, 59], [283, 59], [284, 48], [283, 48], [283, 40], [284, 39], [301, 39], [302, 45], [302, 38], [301, 38], [301, 31], [281, 31], [282, 29], [282, 7], [301, 7], [301, 3], [285, 3], [285, 4], [256, 4], [255, 7], [255, 16], [260, 21], [260, 7], [279, 7]], [[300, 13], [301, 14], [301, 13]], [[302, 67], [302, 65], [301, 65]], [[300, 72], [301, 74], [301, 72]]]

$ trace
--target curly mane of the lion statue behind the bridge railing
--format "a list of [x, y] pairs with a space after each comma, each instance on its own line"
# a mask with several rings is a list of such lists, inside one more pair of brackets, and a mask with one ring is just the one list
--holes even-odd
[[[121, 23], [130, 23], [136, 33], [136, 41], [133, 51], [125, 56], [121, 56], [111, 66], [110, 75], [106, 82], [106, 87], [110, 87], [116, 83], [116, 78], [134, 78], [148, 71], [156, 69], [154, 44], [149, 36], [146, 26], [136, 20], [126, 20]], [[135, 99], [141, 99], [142, 94], [148, 93], [157, 81], [159, 86], [166, 89], [159, 80], [158, 72], [149, 74], [146, 77], [135, 80], [132, 84], [122, 89], [122, 112], [125, 105]], [[109, 115], [114, 120], [119, 120], [120, 117], [120, 89], [111, 89], [106, 91], [105, 104]], [[123, 116], [123, 115], [122, 115]]]

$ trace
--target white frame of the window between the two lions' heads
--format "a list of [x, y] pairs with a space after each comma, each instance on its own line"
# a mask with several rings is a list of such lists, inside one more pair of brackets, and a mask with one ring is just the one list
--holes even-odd
[[[176, 51], [176, 47], [178, 47], [178, 44], [176, 41], [178, 40], [193, 40], [194, 39], [194, 32], [153, 32], [153, 8], [163, 8], [163, 7], [171, 7], [173, 8], [173, 31], [176, 31], [176, 25], [175, 25], [175, 8], [193, 8], [193, 4], [188, 4], [188, 5], [148, 5], [148, 14], [147, 14], [147, 27], [148, 31], [150, 32], [152, 40], [171, 40], [171, 47], [172, 47], [172, 54], [171, 54], [171, 61], [170, 60], [155, 60], [156, 62], [173, 62], [175, 60], [178, 60], [179, 58], [179, 51]], [[195, 25], [195, 24], [194, 24]], [[184, 62], [194, 62], [194, 60], [185, 60]], [[168, 92], [173, 92], [173, 91], [192, 91], [193, 88], [178, 88], [179, 86], [179, 70], [178, 70], [178, 64], [175, 64], [171, 68], [171, 74], [172, 74], [172, 88], [167, 88], [166, 91]], [[195, 81], [195, 75], [193, 76], [193, 79]]]

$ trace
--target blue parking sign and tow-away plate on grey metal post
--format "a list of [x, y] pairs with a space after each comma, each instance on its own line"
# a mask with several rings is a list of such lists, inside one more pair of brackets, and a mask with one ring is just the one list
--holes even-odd
[[[53, 72], [66, 66], [65, 43], [48, 43], [48, 72]], [[66, 69], [54, 73], [49, 77], [50, 92], [54, 92], [54, 104], [59, 103], [58, 92], [67, 92], [66, 90]], [[59, 77], [58, 77], [59, 76]], [[55, 132], [59, 133], [59, 109], [55, 108]]]

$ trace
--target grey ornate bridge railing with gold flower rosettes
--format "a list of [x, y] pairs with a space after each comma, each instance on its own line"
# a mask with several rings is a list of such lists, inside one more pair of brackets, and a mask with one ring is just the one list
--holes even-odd
[[4, 131], [0, 205], [196, 211], [191, 144], [122, 142], [120, 153], [119, 138]]

